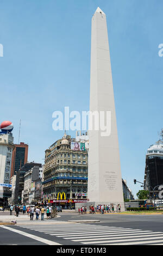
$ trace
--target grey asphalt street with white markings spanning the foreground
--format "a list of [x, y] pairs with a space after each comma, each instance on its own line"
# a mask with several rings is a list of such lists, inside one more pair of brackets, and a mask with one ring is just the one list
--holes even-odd
[[[17, 224], [0, 225], [0, 245], [163, 245], [162, 214], [78, 215], [63, 211], [59, 216], [52, 220], [45, 218], [43, 222], [40, 217], [36, 221], [35, 216], [30, 221], [27, 214], [12, 216]], [[9, 218], [9, 212], [0, 212], [1, 221]], [[100, 222], [91, 223], [95, 220]]]

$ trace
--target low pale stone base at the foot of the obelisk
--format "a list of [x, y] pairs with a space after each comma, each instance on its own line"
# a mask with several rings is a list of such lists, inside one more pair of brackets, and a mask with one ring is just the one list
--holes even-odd
[[[76, 207], [76, 212], [78, 211], [79, 208], [86, 206], [87, 211], [89, 211], [90, 209], [90, 205], [93, 205], [94, 207], [96, 207], [97, 205], [112, 205], [114, 204], [114, 211], [116, 212], [116, 207], [118, 204], [121, 205], [121, 211], [125, 211], [124, 209], [124, 202], [86, 202], [86, 203], [76, 203], [75, 207]], [[112, 211], [111, 207], [110, 207], [110, 211]]]

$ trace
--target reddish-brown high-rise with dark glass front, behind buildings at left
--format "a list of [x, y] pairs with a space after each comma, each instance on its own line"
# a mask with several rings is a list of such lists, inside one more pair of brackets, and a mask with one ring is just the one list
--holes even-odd
[[18, 172], [18, 170], [27, 163], [28, 160], [28, 145], [21, 142], [20, 144], [14, 144], [15, 148], [12, 151], [11, 160], [11, 177]]

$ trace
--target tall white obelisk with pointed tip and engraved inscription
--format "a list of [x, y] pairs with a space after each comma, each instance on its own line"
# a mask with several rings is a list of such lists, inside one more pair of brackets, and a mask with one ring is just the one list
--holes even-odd
[[[87, 198], [93, 204], [121, 204], [124, 210], [120, 153], [106, 16], [98, 7], [92, 17], [90, 111], [109, 112], [111, 131], [89, 130]], [[99, 125], [100, 126], [100, 125]]]

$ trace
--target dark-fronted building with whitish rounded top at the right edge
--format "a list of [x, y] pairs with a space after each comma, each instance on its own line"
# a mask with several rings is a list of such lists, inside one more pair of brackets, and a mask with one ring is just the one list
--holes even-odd
[[158, 187], [163, 184], [163, 129], [160, 133], [160, 140], [151, 145], [146, 154], [145, 167], [145, 190], [150, 191], [153, 196], [153, 190], [158, 197]]

